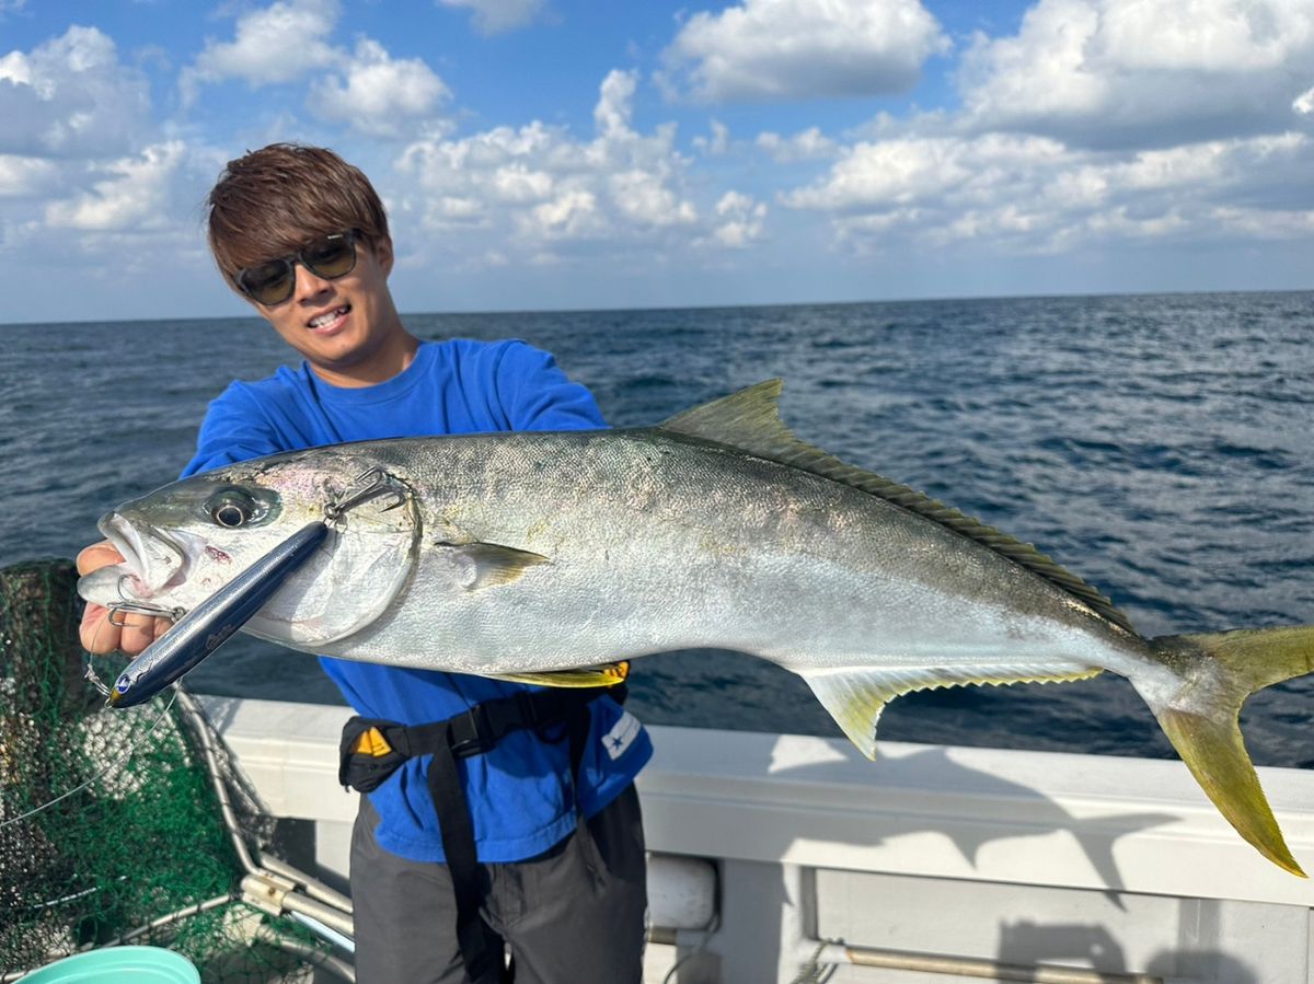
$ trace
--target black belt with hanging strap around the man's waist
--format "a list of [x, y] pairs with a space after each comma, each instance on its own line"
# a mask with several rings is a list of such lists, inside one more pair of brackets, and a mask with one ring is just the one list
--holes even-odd
[[[570, 775], [578, 776], [589, 738], [589, 703], [602, 695], [618, 704], [625, 699], [623, 683], [612, 687], [520, 691], [509, 698], [485, 700], [463, 713], [431, 724], [397, 724], [352, 717], [342, 729], [338, 780], [359, 792], [378, 788], [402, 762], [414, 755], [432, 755], [428, 792], [438, 811], [443, 853], [456, 896], [456, 939], [473, 984], [505, 984], [511, 980], [503, 959], [503, 941], [480, 917], [482, 896], [474, 820], [456, 759], [482, 755], [512, 732], [535, 729], [545, 741], [570, 741]], [[564, 733], [551, 736], [564, 725]], [[579, 809], [576, 780], [576, 811]], [[583, 818], [579, 818], [581, 829]]]

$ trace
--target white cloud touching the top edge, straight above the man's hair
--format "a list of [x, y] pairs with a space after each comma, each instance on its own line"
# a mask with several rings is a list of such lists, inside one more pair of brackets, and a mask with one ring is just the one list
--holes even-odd
[[336, 0], [280, 0], [243, 14], [233, 41], [210, 41], [183, 71], [184, 100], [193, 100], [201, 83], [269, 85], [334, 64], [346, 54], [328, 43], [338, 16]]

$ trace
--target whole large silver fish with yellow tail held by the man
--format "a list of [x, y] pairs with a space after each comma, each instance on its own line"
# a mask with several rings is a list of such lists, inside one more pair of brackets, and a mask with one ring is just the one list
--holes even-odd
[[[737, 649], [802, 675], [869, 757], [900, 694], [1112, 670], [1236, 830], [1303, 874], [1238, 713], [1314, 670], [1314, 627], [1143, 638], [1031, 547], [800, 441], [779, 391], [643, 430], [363, 441], [219, 468], [105, 516], [125, 562], [80, 591], [187, 611], [327, 519], [326, 544], [244, 631], [562, 684], [615, 660]], [[568, 673], [540, 675], [555, 671]]]

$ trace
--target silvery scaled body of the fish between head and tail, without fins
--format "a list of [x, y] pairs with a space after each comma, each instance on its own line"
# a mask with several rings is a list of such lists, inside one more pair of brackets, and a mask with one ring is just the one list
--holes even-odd
[[714, 645], [796, 670], [934, 657], [991, 675], [1017, 662], [1026, 675], [1112, 660], [1117, 642], [1135, 650], [999, 554], [731, 448], [612, 431], [422, 441], [409, 462], [386, 445], [360, 452], [417, 490], [424, 528], [448, 531], [439, 539], [551, 562], [484, 595], [452, 583], [444, 550], [423, 549], [397, 617], [332, 654], [497, 673], [509, 660], [552, 670]]

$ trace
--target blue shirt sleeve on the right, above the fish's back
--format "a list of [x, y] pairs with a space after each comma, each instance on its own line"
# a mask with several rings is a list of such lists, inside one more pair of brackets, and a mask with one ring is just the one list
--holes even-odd
[[557, 360], [524, 342], [494, 347], [493, 388], [507, 430], [586, 431], [607, 422], [593, 394], [572, 382]]

